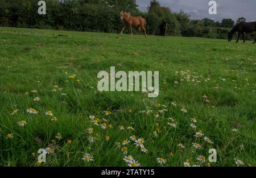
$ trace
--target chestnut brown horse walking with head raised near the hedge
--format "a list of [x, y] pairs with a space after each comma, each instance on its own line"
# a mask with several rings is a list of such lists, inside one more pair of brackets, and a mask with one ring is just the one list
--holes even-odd
[[145, 36], [147, 37], [146, 20], [144, 18], [142, 18], [141, 16], [131, 16], [130, 13], [126, 13], [125, 11], [122, 11], [120, 13], [120, 18], [125, 22], [125, 26], [123, 26], [120, 32], [120, 35], [122, 35], [125, 28], [129, 26], [131, 36], [133, 36], [133, 27], [136, 27], [138, 31], [138, 35], [141, 34], [141, 28], [142, 28]]

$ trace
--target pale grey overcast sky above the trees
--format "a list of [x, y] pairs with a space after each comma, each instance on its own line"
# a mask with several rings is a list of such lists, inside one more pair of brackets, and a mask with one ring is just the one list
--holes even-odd
[[[247, 22], [256, 21], [256, 0], [215, 0], [217, 2], [217, 15], [208, 13], [210, 0], [159, 0], [160, 5], [170, 7], [172, 11], [183, 9], [191, 15], [192, 19], [210, 18], [221, 21], [231, 18], [234, 21], [241, 16]], [[139, 9], [146, 11], [150, 0], [137, 0]]]

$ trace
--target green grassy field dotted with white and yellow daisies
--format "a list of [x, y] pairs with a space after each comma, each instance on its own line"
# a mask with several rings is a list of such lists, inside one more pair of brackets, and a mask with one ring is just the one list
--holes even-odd
[[[0, 165], [128, 166], [127, 148], [142, 166], [255, 166], [251, 43], [0, 28]], [[159, 71], [159, 96], [98, 92], [97, 73], [112, 66]], [[47, 162], [37, 162], [47, 147]], [[210, 148], [216, 163], [208, 163]], [[93, 161], [84, 162], [86, 154]]]

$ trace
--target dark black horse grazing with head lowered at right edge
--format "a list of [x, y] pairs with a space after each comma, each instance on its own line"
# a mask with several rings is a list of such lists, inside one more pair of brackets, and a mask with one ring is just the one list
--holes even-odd
[[[256, 31], [256, 22], [240, 22], [240, 23], [236, 24], [232, 28], [232, 30], [230, 30], [230, 32], [228, 34], [228, 41], [230, 42], [233, 38], [234, 33], [238, 32], [237, 42], [239, 41], [240, 36], [242, 35], [243, 43], [245, 43], [245, 33], [251, 33], [254, 31]], [[255, 42], [256, 42], [256, 37], [255, 37], [253, 43], [255, 43]]]

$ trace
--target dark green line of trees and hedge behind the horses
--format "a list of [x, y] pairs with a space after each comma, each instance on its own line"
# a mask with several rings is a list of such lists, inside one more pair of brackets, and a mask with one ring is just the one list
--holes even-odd
[[[232, 19], [215, 22], [193, 20], [184, 11], [172, 11], [152, 0], [147, 11], [140, 11], [135, 0], [45, 0], [47, 14], [38, 14], [39, 0], [0, 0], [0, 26], [53, 30], [114, 32], [121, 30], [120, 11], [143, 16], [151, 35], [196, 36], [226, 39], [235, 24]], [[240, 18], [237, 22], [245, 21]], [[253, 38], [253, 35], [247, 38]]]

